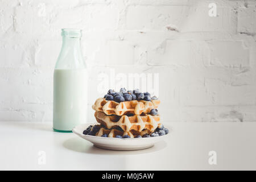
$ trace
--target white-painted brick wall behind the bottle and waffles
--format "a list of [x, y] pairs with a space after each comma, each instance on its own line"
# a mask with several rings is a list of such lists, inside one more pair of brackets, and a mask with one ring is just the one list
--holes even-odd
[[165, 122], [256, 121], [255, 19], [255, 1], [0, 0], [0, 121], [52, 121], [64, 27], [83, 30], [89, 105], [100, 73], [159, 73]]

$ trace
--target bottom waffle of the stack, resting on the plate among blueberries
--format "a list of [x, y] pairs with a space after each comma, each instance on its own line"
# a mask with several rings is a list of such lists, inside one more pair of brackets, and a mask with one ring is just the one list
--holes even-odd
[[144, 129], [141, 132], [138, 131], [120, 131], [117, 129], [104, 129], [104, 127], [102, 127], [97, 133], [96, 133], [96, 137], [101, 137], [102, 135], [107, 134], [108, 137], [110, 138], [115, 138], [117, 135], [123, 136], [123, 135], [129, 135], [131, 138], [136, 137], [137, 135], [141, 135], [143, 136], [144, 134], [150, 134], [150, 131], [147, 129]]

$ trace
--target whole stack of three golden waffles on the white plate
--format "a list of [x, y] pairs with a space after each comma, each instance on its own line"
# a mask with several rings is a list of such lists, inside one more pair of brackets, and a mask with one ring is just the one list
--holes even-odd
[[[160, 116], [152, 114], [157, 109], [160, 100], [131, 100], [116, 102], [98, 98], [92, 108], [99, 123], [96, 136], [117, 137], [129, 136], [135, 138], [152, 134], [156, 128], [162, 127]], [[93, 126], [95, 127], [95, 126]], [[93, 129], [92, 129], [93, 130]]]

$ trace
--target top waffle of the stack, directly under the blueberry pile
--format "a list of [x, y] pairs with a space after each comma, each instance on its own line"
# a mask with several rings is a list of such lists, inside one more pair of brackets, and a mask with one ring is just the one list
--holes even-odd
[[107, 115], [124, 115], [150, 113], [151, 109], [156, 109], [160, 104], [160, 100], [152, 101], [125, 101], [115, 102], [107, 101], [105, 98], [98, 98], [92, 108], [96, 111], [102, 111]]

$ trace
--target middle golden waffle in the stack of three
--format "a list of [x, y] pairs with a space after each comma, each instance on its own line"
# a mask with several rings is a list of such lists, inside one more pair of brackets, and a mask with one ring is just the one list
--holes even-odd
[[114, 127], [121, 127], [123, 131], [129, 132], [131, 130], [141, 132], [143, 129], [147, 129], [153, 132], [156, 127], [160, 127], [159, 115], [141, 114], [141, 115], [106, 115], [101, 111], [96, 111], [94, 114], [96, 120], [107, 129]]

